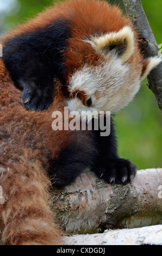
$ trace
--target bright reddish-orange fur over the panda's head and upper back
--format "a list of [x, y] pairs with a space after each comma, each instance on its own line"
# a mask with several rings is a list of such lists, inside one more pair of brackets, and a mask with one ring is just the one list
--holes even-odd
[[[96, 31], [98, 34], [118, 32], [125, 26], [130, 26], [134, 30], [132, 22], [115, 5], [110, 6], [107, 2], [96, 0], [66, 0], [48, 8], [35, 19], [13, 30], [6, 35], [6, 38], [47, 27], [57, 19], [66, 19], [71, 31], [71, 36], [67, 40], [69, 47], [65, 53], [65, 64], [68, 67], [67, 81], [73, 71], [82, 68], [85, 63], [97, 65], [103, 60], [101, 54], [96, 53], [90, 44], [82, 41], [86, 36], [89, 38], [89, 35], [96, 34]], [[134, 36], [135, 50], [128, 63], [132, 64], [133, 69], [142, 70], [143, 58], [138, 47], [138, 34], [134, 32]]]

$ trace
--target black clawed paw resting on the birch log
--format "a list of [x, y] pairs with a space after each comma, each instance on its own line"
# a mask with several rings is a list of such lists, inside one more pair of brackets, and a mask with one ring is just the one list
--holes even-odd
[[109, 183], [126, 184], [131, 182], [136, 174], [135, 164], [126, 159], [109, 159], [103, 166], [94, 167], [93, 171], [101, 179]]

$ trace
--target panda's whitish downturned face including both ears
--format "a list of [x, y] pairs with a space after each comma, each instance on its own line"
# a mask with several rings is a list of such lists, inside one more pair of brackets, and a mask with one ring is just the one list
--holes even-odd
[[[134, 33], [130, 27], [119, 32], [92, 37], [85, 42], [102, 56], [99, 65], [85, 64], [68, 81], [69, 111], [110, 111], [126, 106], [140, 88], [140, 82], [160, 60], [152, 58], [145, 74], [137, 65], [134, 52]], [[104, 56], [104, 58], [103, 58]]]

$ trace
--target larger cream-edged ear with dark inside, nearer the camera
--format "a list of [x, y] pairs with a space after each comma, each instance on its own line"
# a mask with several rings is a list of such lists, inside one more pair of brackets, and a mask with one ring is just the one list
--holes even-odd
[[99, 37], [91, 36], [86, 42], [89, 42], [96, 52], [107, 56], [113, 51], [122, 62], [126, 62], [134, 51], [134, 32], [126, 26], [119, 32], [110, 32]]

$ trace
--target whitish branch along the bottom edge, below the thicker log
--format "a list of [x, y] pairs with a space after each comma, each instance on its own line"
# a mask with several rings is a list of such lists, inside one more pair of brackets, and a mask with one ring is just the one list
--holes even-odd
[[162, 245], [162, 225], [66, 237], [67, 245]]

